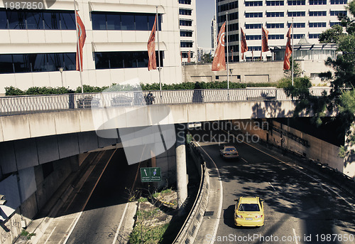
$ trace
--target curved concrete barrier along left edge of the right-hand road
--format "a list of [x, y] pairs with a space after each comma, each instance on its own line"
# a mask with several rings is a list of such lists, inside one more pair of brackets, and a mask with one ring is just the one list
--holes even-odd
[[175, 238], [173, 244], [178, 243], [193, 243], [197, 231], [199, 230], [204, 212], [207, 208], [208, 197], [209, 197], [209, 174], [207, 172], [206, 162], [202, 157], [202, 154], [197, 149], [193, 142], [190, 144], [190, 154], [197, 164], [199, 173], [201, 176], [200, 188], [197, 193], [197, 198], [194, 205], [191, 208], [189, 215], [186, 218], [185, 223], [183, 224], [178, 236]]

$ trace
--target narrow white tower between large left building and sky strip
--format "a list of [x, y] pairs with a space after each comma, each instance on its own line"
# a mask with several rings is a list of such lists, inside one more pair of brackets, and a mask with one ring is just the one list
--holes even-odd
[[180, 55], [187, 63], [190, 51], [191, 62], [197, 63], [196, 0], [179, 0]]

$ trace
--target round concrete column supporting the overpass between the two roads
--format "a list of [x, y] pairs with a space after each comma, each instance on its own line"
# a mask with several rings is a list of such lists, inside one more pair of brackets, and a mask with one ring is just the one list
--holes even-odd
[[175, 125], [176, 142], [176, 178], [178, 185], [178, 208], [183, 211], [183, 203], [187, 198], [187, 171], [186, 171], [186, 149], [185, 149], [185, 124]]

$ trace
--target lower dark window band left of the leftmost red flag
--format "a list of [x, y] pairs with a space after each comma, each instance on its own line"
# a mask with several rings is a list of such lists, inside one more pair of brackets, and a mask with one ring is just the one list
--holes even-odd
[[0, 54], [0, 73], [75, 70], [75, 53]]

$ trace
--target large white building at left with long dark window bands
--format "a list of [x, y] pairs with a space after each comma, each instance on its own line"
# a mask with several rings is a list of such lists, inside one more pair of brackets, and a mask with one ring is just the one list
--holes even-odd
[[[75, 70], [74, 2], [28, 3], [20, 8], [11, 1], [0, 2], [0, 93], [9, 86], [22, 90], [33, 86], [79, 87], [80, 72]], [[147, 42], [156, 6], [162, 83], [182, 81], [180, 38], [183, 37], [180, 37], [178, 16], [185, 16], [182, 12], [188, 12], [188, 8], [182, 6], [190, 7], [190, 4], [160, 0], [79, 0], [77, 9], [87, 33], [83, 50], [84, 85], [158, 83], [158, 70], [147, 68]], [[192, 10], [187, 18], [191, 16], [195, 16]], [[193, 32], [195, 22], [185, 27]], [[158, 52], [157, 36], [155, 47]]]

